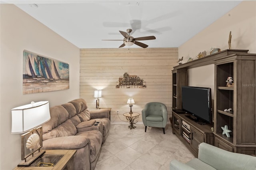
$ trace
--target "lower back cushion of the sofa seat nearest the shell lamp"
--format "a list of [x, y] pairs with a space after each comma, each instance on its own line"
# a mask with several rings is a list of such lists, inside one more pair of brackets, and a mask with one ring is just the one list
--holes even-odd
[[43, 140], [62, 136], [74, 136], [77, 133], [75, 125], [68, 119], [50, 132], [43, 134]]

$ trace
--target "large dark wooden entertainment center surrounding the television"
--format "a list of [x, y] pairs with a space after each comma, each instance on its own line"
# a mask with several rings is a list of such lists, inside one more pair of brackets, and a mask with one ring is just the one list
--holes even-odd
[[[256, 154], [256, 54], [226, 49], [177, 65], [172, 70], [172, 132], [198, 155], [201, 142], [242, 154]], [[199, 125], [175, 109], [182, 109], [182, 86], [188, 86], [187, 70], [214, 64], [213, 124]], [[226, 80], [232, 77], [233, 86]], [[199, 83], [200, 84], [200, 83]], [[224, 111], [224, 109], [232, 109]], [[222, 134], [228, 126], [230, 137]]]

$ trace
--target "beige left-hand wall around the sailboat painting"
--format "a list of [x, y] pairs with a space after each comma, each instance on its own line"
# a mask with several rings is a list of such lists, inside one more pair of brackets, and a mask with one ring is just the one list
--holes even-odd
[[[11, 134], [11, 109], [31, 101], [50, 106], [79, 98], [79, 48], [14, 5], [0, 5], [0, 169], [21, 161], [20, 134]], [[22, 95], [23, 50], [58, 59], [70, 66], [70, 89]]]

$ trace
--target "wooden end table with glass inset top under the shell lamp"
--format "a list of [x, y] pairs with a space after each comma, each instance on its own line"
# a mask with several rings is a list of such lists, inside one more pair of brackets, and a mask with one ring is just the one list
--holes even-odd
[[[75, 153], [76, 150], [46, 150], [30, 166], [19, 166], [14, 168], [14, 170], [64, 170], [64, 168], [74, 170], [73, 159]], [[38, 166], [41, 162], [53, 163], [54, 166]]]

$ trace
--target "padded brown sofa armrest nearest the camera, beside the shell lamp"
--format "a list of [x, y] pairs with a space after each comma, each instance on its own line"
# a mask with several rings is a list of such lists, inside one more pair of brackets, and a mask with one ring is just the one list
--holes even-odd
[[43, 141], [42, 149], [79, 149], [90, 144], [86, 136], [63, 136]]

